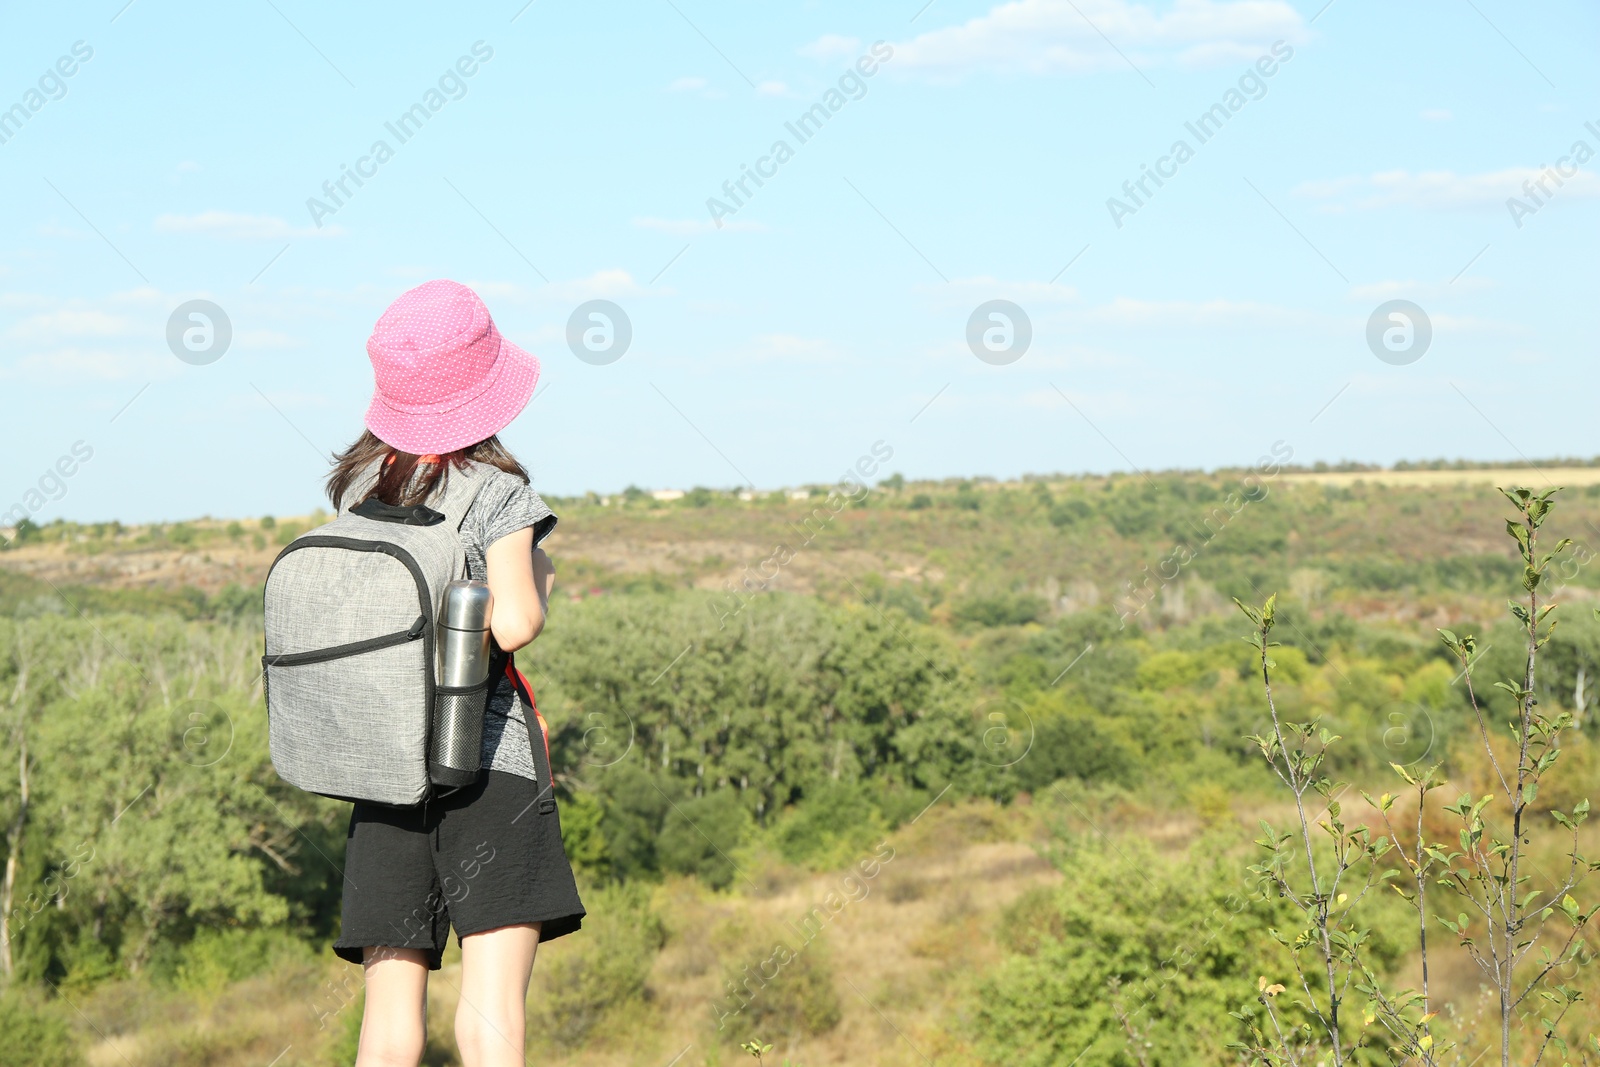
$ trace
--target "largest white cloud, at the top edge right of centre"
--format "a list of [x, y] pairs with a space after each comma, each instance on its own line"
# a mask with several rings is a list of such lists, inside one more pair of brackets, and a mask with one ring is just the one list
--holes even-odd
[[963, 26], [894, 45], [886, 66], [934, 77], [979, 69], [1088, 74], [1126, 70], [1128, 61], [1211, 67], [1248, 62], [1274, 42], [1306, 37], [1285, 0], [1176, 0], [1165, 14], [1130, 0], [1011, 0]]

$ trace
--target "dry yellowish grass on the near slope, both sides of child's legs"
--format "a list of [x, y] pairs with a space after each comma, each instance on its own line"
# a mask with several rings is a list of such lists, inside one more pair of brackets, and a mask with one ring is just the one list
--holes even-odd
[[[778, 865], [755, 891], [733, 894], [670, 880], [654, 891], [669, 936], [645, 1000], [614, 1006], [578, 1049], [530, 1029], [531, 1061], [632, 1067], [667, 1064], [682, 1053], [677, 1067], [726, 1065], [747, 1061], [739, 1041], [762, 1037], [776, 1046], [770, 1064], [974, 1064], [958, 1017], [973, 976], [1000, 957], [998, 915], [1026, 889], [1059, 880], [1034, 848], [1038, 833], [1027, 808], [944, 801], [886, 838], [893, 857], [870, 878], [859, 867], [806, 873]], [[805, 944], [797, 929], [808, 915], [824, 918], [813, 918], [818, 933]], [[840, 1005], [835, 1027], [784, 1035], [733, 1016], [718, 1033], [723, 968], [749, 958], [741, 944], [747, 931], [787, 931], [790, 944], [805, 945], [800, 952], [826, 957]], [[530, 1003], [538, 1003], [555, 958], [582, 952], [582, 937], [539, 950]], [[456, 1062], [448, 1049], [459, 987], [461, 950], [453, 942], [429, 982], [430, 1064]], [[360, 973], [330, 953], [205, 995], [123, 982], [75, 1000], [93, 1067], [320, 1067], [334, 1062], [331, 1046], [355, 1022], [358, 992]]]

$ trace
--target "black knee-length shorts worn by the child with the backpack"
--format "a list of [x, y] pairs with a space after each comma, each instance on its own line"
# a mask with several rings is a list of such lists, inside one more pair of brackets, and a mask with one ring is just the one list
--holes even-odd
[[541, 941], [582, 925], [555, 800], [518, 774], [485, 771], [416, 808], [357, 803], [344, 857], [344, 913], [333, 950], [421, 949], [427, 966], [456, 937], [544, 923]]

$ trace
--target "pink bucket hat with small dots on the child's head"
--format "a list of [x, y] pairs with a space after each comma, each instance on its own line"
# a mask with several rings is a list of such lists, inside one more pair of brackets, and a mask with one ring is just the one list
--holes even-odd
[[499, 434], [539, 381], [539, 360], [506, 341], [459, 282], [426, 282], [400, 296], [373, 326], [366, 357], [376, 381], [366, 429], [416, 456]]

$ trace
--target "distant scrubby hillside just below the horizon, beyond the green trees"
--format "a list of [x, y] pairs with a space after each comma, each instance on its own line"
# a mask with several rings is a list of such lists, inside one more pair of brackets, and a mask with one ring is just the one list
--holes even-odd
[[[1510, 573], [1493, 486], [1517, 483], [1570, 486], [1560, 533], [1584, 558], [1600, 530], [1600, 467], [891, 482], [838, 510], [826, 486], [803, 501], [782, 491], [746, 501], [694, 490], [672, 502], [589, 494], [550, 498], [562, 523], [546, 545], [571, 598], [643, 587], [760, 589], [890, 597], [949, 621], [986, 608], [1051, 617], [1107, 606], [1144, 616], [1141, 605], [1154, 595], [1158, 617], [1182, 622], [1272, 585], [1352, 617], [1432, 619], [1482, 608], [1480, 579]], [[48, 582], [163, 600], [192, 590], [189, 601], [200, 605], [229, 585], [259, 585], [278, 549], [325, 520], [318, 512], [51, 523], [24, 528], [0, 552], [0, 568], [40, 581], [13, 582], [10, 597], [48, 592]], [[1584, 566], [1568, 581], [1574, 592], [1600, 587]], [[126, 603], [139, 603], [138, 595]]]

